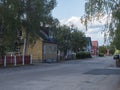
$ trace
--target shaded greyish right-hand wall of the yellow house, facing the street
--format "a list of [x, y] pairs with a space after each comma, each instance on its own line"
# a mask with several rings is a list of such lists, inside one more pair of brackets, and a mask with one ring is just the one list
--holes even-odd
[[57, 44], [44, 43], [43, 60], [47, 59], [57, 60]]

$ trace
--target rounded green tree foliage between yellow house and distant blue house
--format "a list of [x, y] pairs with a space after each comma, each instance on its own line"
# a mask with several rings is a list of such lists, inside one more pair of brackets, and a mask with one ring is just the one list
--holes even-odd
[[79, 31], [77, 28], [70, 28], [68, 26], [59, 26], [56, 29], [55, 38], [58, 41], [59, 50], [67, 54], [68, 50], [78, 52], [86, 46], [84, 40], [84, 33]]

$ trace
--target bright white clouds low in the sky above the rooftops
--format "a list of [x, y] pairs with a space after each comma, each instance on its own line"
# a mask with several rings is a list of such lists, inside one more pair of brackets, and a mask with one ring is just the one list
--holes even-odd
[[104, 16], [103, 18], [100, 18], [100, 20], [94, 20], [92, 23], [88, 23], [88, 30], [85, 30], [85, 26], [81, 23], [80, 17], [72, 16], [68, 20], [60, 20], [61, 24], [65, 24], [68, 26], [74, 25], [76, 26], [80, 31], [84, 32], [87, 37], [91, 37], [92, 41], [98, 40], [99, 45], [104, 44], [104, 34], [103, 29], [104, 25], [107, 22], [107, 16]]

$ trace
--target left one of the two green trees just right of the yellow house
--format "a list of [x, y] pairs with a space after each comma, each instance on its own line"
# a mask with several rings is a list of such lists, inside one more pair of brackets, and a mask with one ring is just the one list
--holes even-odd
[[67, 50], [71, 48], [71, 31], [70, 27], [63, 25], [59, 26], [55, 31], [55, 39], [58, 41], [58, 48], [60, 51], [67, 54]]

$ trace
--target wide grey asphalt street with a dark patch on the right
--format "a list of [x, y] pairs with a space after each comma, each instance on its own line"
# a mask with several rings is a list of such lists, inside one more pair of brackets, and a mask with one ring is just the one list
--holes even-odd
[[112, 57], [0, 69], [0, 90], [120, 90]]

